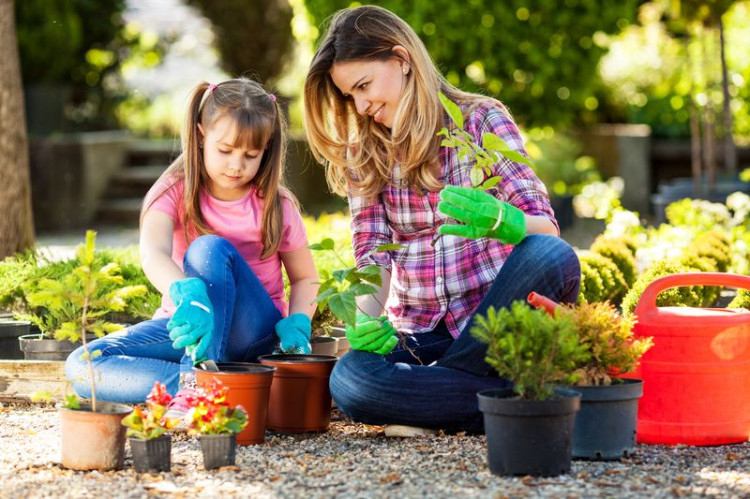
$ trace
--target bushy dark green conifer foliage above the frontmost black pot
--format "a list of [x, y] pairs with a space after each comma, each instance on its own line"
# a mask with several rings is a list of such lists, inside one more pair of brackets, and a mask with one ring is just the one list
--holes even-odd
[[553, 382], [575, 382], [576, 366], [589, 356], [572, 318], [560, 312], [552, 317], [521, 301], [507, 309], [490, 307], [486, 316], [476, 317], [471, 334], [487, 343], [487, 363], [530, 400], [552, 397]]

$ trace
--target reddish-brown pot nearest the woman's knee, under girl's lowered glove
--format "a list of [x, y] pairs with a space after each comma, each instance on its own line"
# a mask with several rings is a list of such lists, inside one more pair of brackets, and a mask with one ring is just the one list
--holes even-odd
[[338, 360], [331, 355], [263, 355], [276, 367], [268, 402], [268, 428], [281, 433], [326, 431], [331, 422], [328, 380]]

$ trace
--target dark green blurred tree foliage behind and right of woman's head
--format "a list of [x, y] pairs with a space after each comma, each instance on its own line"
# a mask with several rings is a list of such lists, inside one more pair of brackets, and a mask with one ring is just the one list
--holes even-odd
[[[377, 3], [406, 20], [451, 83], [498, 97], [524, 125], [558, 126], [598, 120], [600, 99], [593, 91], [607, 35], [635, 21], [640, 1], [362, 3]], [[352, 2], [305, 4], [313, 23], [321, 25]]]

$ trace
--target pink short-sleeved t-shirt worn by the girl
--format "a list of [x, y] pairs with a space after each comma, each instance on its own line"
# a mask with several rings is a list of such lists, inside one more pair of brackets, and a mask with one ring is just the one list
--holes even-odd
[[[169, 215], [174, 220], [172, 233], [172, 260], [182, 269], [182, 261], [187, 250], [185, 233], [182, 229], [179, 213], [182, 212], [183, 180], [167, 189], [164, 194], [154, 201], [149, 210], [158, 210]], [[158, 192], [160, 184], [152, 187], [152, 192]], [[260, 259], [263, 250], [261, 241], [261, 222], [263, 218], [263, 199], [252, 187], [245, 197], [236, 201], [221, 201], [212, 197], [208, 192], [201, 192], [201, 213], [206, 225], [214, 234], [225, 238], [237, 249], [247, 264], [258, 276], [263, 287], [266, 288], [271, 299], [281, 313], [288, 314], [288, 303], [284, 295], [284, 280], [281, 273], [281, 258], [277, 252], [274, 255]], [[307, 246], [307, 233], [302, 223], [302, 217], [294, 203], [282, 196], [281, 201], [284, 229], [282, 231], [279, 252], [294, 251]], [[179, 208], [178, 208], [179, 207]], [[175, 306], [169, 296], [162, 297], [162, 306], [154, 314], [154, 318], [170, 317]]]

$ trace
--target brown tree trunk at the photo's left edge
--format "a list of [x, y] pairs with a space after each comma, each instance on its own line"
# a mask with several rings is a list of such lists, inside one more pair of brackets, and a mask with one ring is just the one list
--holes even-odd
[[0, 259], [34, 244], [23, 102], [13, 0], [0, 0]]

